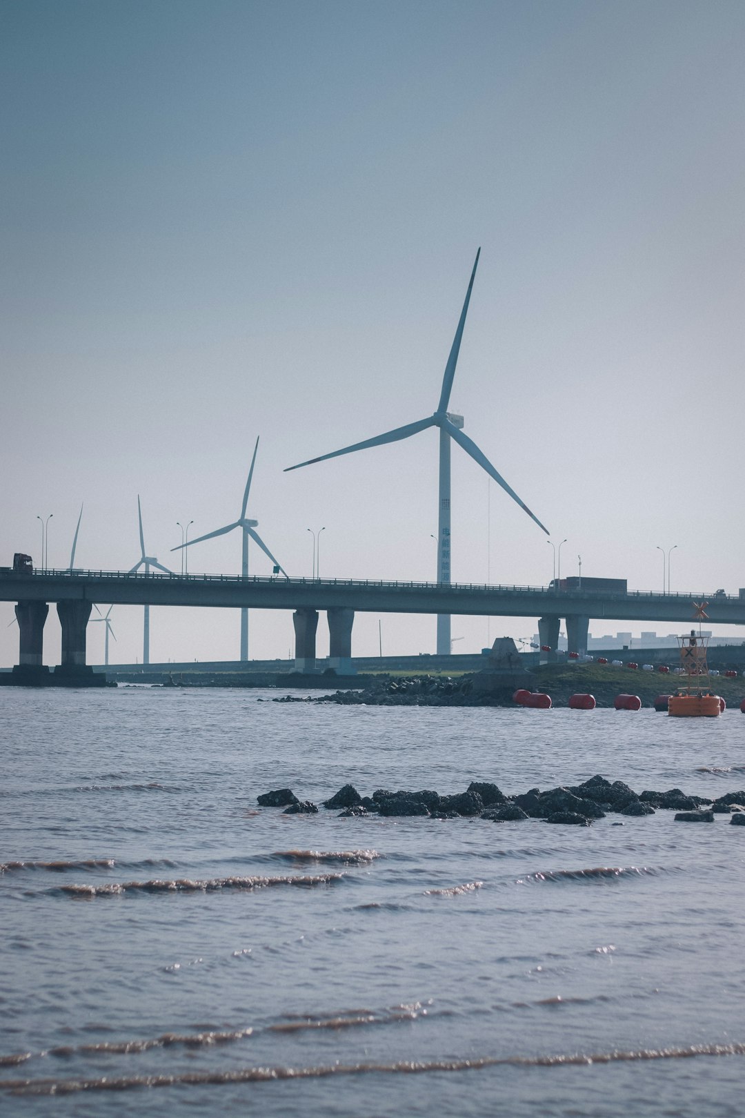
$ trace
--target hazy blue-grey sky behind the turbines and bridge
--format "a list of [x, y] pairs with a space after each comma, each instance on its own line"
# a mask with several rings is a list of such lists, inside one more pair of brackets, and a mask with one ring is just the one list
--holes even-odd
[[[437, 432], [283, 471], [431, 415], [480, 246], [451, 410], [562, 575], [661, 590], [675, 548], [672, 590], [736, 594], [744, 48], [742, 0], [0, 0], [0, 565], [51, 514], [68, 566], [84, 503], [76, 566], [128, 569], [140, 495], [180, 570], [176, 522], [238, 518], [260, 436], [249, 515], [290, 575], [323, 528], [324, 578], [433, 580]], [[189, 550], [239, 567], [239, 533]], [[453, 581], [552, 576], [453, 446]], [[434, 651], [433, 617], [357, 614], [355, 655], [379, 620]], [[112, 623], [141, 660], [142, 608]], [[534, 632], [456, 617], [453, 651]], [[249, 641], [286, 657], [290, 613]], [[237, 610], [152, 610], [152, 661], [238, 651]]]

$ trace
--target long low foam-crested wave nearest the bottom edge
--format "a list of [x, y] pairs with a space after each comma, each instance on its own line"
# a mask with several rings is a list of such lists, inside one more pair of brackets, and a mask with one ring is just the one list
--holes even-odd
[[226, 1071], [184, 1071], [152, 1076], [104, 1076], [98, 1079], [6, 1079], [0, 1086], [15, 1095], [73, 1095], [80, 1091], [126, 1091], [139, 1087], [218, 1086], [266, 1083], [288, 1079], [324, 1079], [332, 1076], [427, 1074], [442, 1071], [478, 1071], [484, 1068], [565, 1068], [646, 1060], [689, 1060], [696, 1057], [745, 1055], [745, 1043], [690, 1044], [686, 1048], [615, 1050], [613, 1052], [558, 1053], [534, 1057], [471, 1057], [453, 1060], [398, 1060], [392, 1063], [333, 1063], [306, 1068], [235, 1068]]

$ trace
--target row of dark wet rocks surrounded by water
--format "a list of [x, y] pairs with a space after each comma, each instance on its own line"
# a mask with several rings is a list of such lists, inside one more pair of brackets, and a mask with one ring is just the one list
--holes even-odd
[[[260, 807], [283, 807], [285, 814], [315, 814], [318, 808], [300, 800], [290, 788], [279, 788], [258, 797]], [[378, 788], [362, 796], [352, 784], [345, 784], [324, 800], [327, 811], [337, 811], [341, 818], [353, 816], [421, 816], [430, 819], [461, 817], [481, 818], [489, 823], [519, 819], [543, 819], [546, 823], [590, 826], [609, 814], [627, 817], [655, 815], [657, 811], [675, 811], [681, 822], [714, 822], [715, 815], [745, 816], [745, 792], [732, 792], [711, 800], [690, 796], [680, 788], [667, 792], [637, 793], [622, 780], [593, 776], [579, 785], [506, 795], [496, 784], [472, 780], [465, 792], [441, 794], [431, 788], [420, 790]], [[340, 811], [341, 808], [341, 811]], [[701, 808], [704, 808], [701, 811]], [[623, 822], [623, 821], [619, 821]], [[743, 823], [737, 818], [738, 823]]]

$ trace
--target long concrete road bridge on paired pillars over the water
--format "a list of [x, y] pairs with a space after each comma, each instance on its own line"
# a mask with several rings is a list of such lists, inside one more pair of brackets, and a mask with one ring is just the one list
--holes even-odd
[[690, 628], [693, 603], [707, 601], [710, 624], [745, 625], [745, 596], [719, 593], [655, 594], [642, 590], [598, 591], [545, 586], [483, 584], [384, 582], [371, 579], [245, 578], [232, 575], [165, 575], [144, 571], [40, 570], [0, 571], [0, 601], [16, 603], [20, 634], [19, 663], [13, 672], [29, 682], [48, 673], [42, 662], [44, 625], [49, 603], [57, 604], [63, 643], [60, 682], [82, 679], [86, 665], [86, 626], [93, 604], [126, 606], [195, 606], [292, 609], [295, 666], [315, 664], [318, 612], [325, 610], [329, 665], [350, 669], [355, 612], [459, 614], [480, 617], [538, 617], [542, 645], [555, 650], [561, 620], [570, 652], [588, 646], [591, 618], [667, 622]]

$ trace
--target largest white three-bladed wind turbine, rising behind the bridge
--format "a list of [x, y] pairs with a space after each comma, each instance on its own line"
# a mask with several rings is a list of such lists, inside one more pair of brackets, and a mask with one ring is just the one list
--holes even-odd
[[[476, 277], [476, 268], [478, 266], [478, 258], [481, 254], [479, 248], [476, 253], [476, 260], [474, 263], [474, 271], [471, 272], [470, 282], [468, 284], [468, 291], [466, 292], [466, 301], [464, 303], [464, 309], [460, 312], [460, 320], [458, 322], [458, 329], [456, 330], [456, 337], [452, 341], [452, 347], [450, 349], [450, 356], [448, 358], [448, 363], [445, 367], [445, 376], [442, 378], [442, 390], [440, 391], [440, 400], [437, 405], [437, 410], [428, 416], [426, 419], [419, 419], [417, 423], [407, 424], [405, 427], [397, 427], [394, 430], [385, 432], [384, 435], [376, 435], [375, 438], [367, 438], [363, 443], [354, 443], [352, 446], [345, 446], [341, 451], [333, 451], [331, 454], [322, 454], [318, 458], [308, 458], [307, 462], [299, 462], [296, 466], [288, 466], [287, 470], [299, 470], [300, 466], [309, 466], [314, 462], [324, 462], [326, 458], [336, 458], [341, 454], [352, 454], [353, 451], [366, 451], [372, 446], [383, 446], [385, 443], [397, 443], [399, 439], [409, 438], [410, 435], [417, 435], [420, 430], [427, 430], [428, 427], [439, 427], [440, 430], [440, 486], [439, 486], [439, 517], [438, 517], [438, 544], [437, 544], [437, 581], [441, 586], [450, 585], [450, 440], [453, 439], [460, 446], [462, 446], [466, 454], [469, 454], [471, 458], [481, 466], [483, 470], [487, 472], [490, 477], [494, 477], [497, 484], [502, 485], [503, 490], [509, 494], [513, 501], [516, 501], [520, 509], [528, 514], [528, 517], [536, 522], [538, 528], [542, 528], [546, 534], [548, 529], [544, 528], [538, 518], [531, 512], [528, 506], [520, 501], [517, 493], [507, 484], [502, 474], [498, 474], [494, 468], [489, 459], [485, 454], [479, 451], [476, 443], [474, 443], [467, 435], [462, 433], [464, 417], [453, 415], [448, 411], [448, 404], [450, 402], [450, 392], [452, 390], [452, 379], [456, 375], [456, 364], [458, 363], [458, 353], [460, 350], [460, 340], [464, 333], [464, 326], [466, 324], [466, 315], [468, 313], [468, 304], [470, 302], [471, 290], [474, 287], [474, 278]], [[287, 472], [287, 471], [285, 471]], [[437, 617], [437, 653], [440, 656], [447, 656], [450, 654], [450, 617], [447, 614], [438, 614]]]

